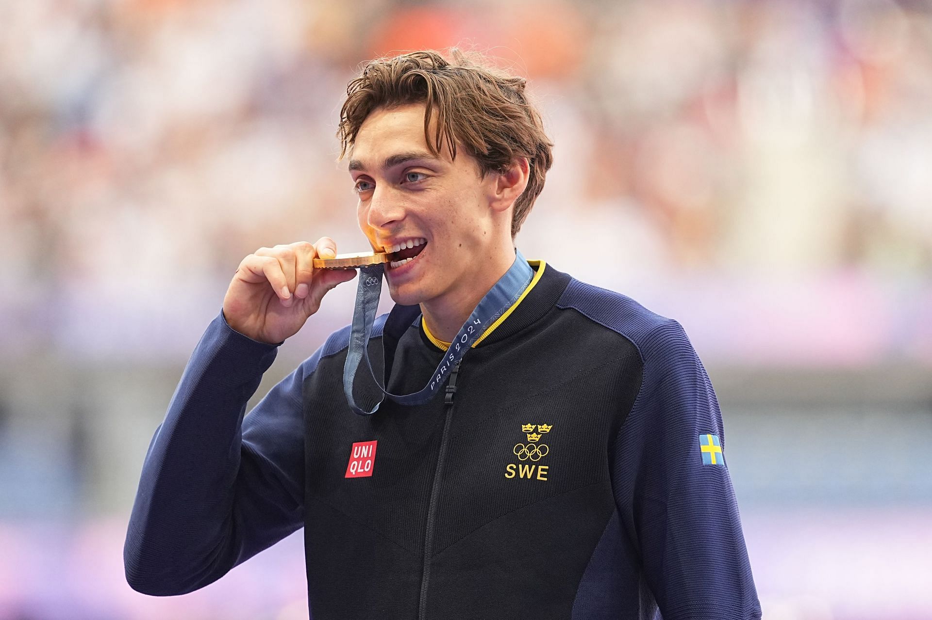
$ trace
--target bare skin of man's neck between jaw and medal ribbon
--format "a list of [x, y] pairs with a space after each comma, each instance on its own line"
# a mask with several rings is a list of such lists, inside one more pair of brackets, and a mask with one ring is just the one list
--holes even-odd
[[453, 342], [463, 323], [473, 314], [475, 306], [479, 305], [486, 293], [514, 263], [514, 248], [509, 248], [507, 253], [502, 253], [494, 264], [487, 265], [469, 283], [449, 291], [445, 296], [420, 304], [421, 314], [435, 338], [445, 343]]

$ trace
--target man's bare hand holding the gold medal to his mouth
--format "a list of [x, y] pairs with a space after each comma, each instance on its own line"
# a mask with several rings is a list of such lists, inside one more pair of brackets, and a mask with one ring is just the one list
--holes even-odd
[[354, 276], [354, 269], [314, 269], [314, 258], [336, 256], [336, 243], [298, 241], [260, 248], [242, 260], [224, 297], [231, 328], [253, 340], [278, 344], [298, 332], [321, 307], [323, 295]]

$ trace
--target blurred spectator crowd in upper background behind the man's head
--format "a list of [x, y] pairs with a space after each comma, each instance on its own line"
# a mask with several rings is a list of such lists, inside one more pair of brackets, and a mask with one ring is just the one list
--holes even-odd
[[526, 255], [619, 263], [608, 285], [932, 265], [925, 2], [34, 0], [0, 24], [12, 350], [101, 308], [219, 306], [261, 246], [364, 249], [337, 112], [360, 62], [420, 47], [530, 79], [556, 147]]

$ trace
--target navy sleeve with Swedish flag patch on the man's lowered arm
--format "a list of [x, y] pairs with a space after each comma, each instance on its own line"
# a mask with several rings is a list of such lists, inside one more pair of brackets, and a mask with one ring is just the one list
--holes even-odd
[[651, 593], [665, 620], [760, 618], [706, 370], [676, 321], [652, 330], [640, 351], [643, 383], [612, 473]]

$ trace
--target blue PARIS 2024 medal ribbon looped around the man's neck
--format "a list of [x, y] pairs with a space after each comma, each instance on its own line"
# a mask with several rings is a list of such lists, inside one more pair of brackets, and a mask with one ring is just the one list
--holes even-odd
[[[450, 373], [453, 366], [466, 355], [475, 340], [517, 302], [518, 297], [528, 288], [528, 284], [530, 284], [530, 280], [534, 276], [534, 270], [530, 268], [528, 261], [525, 260], [520, 251], [515, 249], [514, 263], [505, 272], [505, 275], [499, 278], [495, 286], [486, 293], [482, 301], [475, 306], [473, 314], [463, 323], [457, 337], [447, 349], [446, 355], [440, 361], [436, 371], [433, 372], [431, 380], [419, 392], [399, 396], [391, 394], [385, 389], [381, 380], [377, 378], [375, 371], [372, 370], [372, 363], [369, 361], [368, 343], [369, 338], [372, 336], [372, 326], [376, 321], [378, 296], [382, 291], [382, 276], [385, 273], [384, 266], [384, 264], [380, 263], [360, 267], [359, 286], [356, 289], [356, 307], [353, 310], [352, 328], [349, 332], [349, 352], [347, 353], [346, 364], [343, 366], [343, 393], [347, 397], [350, 409], [360, 415], [375, 413], [385, 397], [389, 397], [402, 405], [422, 405], [433, 398], [433, 395], [444, 384], [446, 375]], [[372, 411], [360, 409], [352, 397], [353, 380], [363, 359], [365, 359], [365, 365], [369, 369], [370, 376], [372, 376], [378, 389], [383, 394]]]

